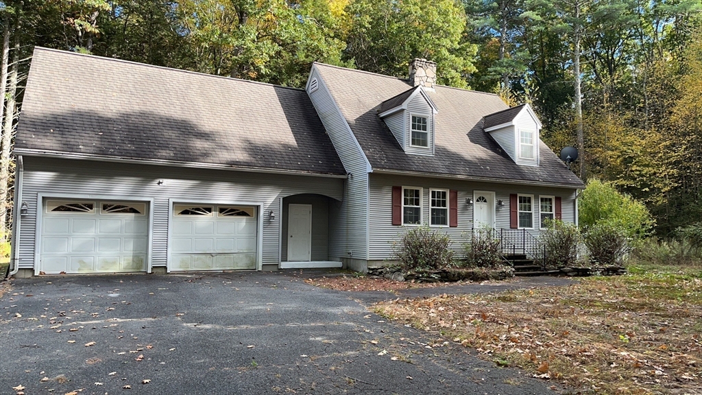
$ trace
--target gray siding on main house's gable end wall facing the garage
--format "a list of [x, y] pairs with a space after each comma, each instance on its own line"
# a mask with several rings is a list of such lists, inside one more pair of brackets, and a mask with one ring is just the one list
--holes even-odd
[[313, 78], [317, 78], [319, 88], [310, 93], [310, 99], [344, 169], [350, 173], [344, 185], [341, 204], [330, 204], [329, 259], [368, 259], [368, 177], [371, 166], [333, 101], [324, 79], [314, 67], [310, 80]]

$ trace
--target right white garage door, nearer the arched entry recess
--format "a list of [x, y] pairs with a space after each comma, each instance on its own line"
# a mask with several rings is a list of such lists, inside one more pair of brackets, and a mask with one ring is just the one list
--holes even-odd
[[171, 271], [256, 269], [256, 207], [173, 205]]

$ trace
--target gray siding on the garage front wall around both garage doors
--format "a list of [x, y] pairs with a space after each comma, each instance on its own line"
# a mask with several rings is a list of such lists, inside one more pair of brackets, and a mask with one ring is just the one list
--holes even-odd
[[[67, 195], [124, 196], [153, 199], [152, 265], [166, 266], [168, 199], [180, 202], [242, 202], [263, 204], [263, 265], [280, 257], [280, 200], [299, 193], [317, 193], [340, 200], [342, 179], [240, 171], [189, 169], [82, 160], [24, 157], [22, 200], [29, 213], [20, 222], [20, 268], [34, 265], [37, 198]], [[157, 181], [163, 180], [159, 186]], [[272, 211], [274, 219], [267, 218]]]

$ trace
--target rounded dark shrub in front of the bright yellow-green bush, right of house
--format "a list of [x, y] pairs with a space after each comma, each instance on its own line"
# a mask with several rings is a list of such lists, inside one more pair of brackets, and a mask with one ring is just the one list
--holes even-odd
[[595, 224], [585, 232], [585, 246], [594, 264], [622, 264], [630, 251], [628, 239], [621, 228], [611, 224]]

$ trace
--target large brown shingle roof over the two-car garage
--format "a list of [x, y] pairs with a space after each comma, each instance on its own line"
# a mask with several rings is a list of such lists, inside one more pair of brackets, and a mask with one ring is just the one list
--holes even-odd
[[307, 93], [35, 48], [15, 150], [345, 174]]

